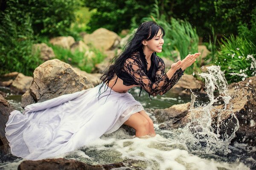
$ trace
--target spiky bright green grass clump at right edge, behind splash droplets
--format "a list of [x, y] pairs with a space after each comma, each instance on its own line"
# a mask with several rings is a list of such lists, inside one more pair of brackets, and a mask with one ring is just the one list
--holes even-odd
[[[215, 64], [221, 65], [221, 70], [225, 71], [227, 81], [239, 82], [243, 77], [255, 76], [256, 68], [251, 68], [251, 63], [255, 62], [256, 46], [244, 37], [230, 36], [229, 39], [221, 40], [221, 51]], [[253, 55], [253, 59], [247, 57]], [[256, 63], [255, 63], [256, 65]]]

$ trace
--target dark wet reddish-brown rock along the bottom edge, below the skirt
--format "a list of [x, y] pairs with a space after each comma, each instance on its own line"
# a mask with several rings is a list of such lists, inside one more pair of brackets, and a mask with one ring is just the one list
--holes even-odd
[[125, 167], [122, 162], [104, 165], [90, 165], [80, 161], [58, 159], [43, 159], [39, 161], [23, 161], [18, 170], [111, 170]]

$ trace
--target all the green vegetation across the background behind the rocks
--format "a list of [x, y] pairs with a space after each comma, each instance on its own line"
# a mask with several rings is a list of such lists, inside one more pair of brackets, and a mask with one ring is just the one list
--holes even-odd
[[[166, 30], [161, 57], [177, 61], [198, 51], [198, 42], [211, 53], [196, 62], [187, 74], [200, 72], [201, 63], [221, 65], [228, 82], [255, 74], [256, 1], [254, 0], [7, 0], [0, 1], [0, 73], [19, 71], [32, 75], [43, 61], [31, 54], [32, 45], [45, 42], [64, 62], [90, 72], [104, 55], [92, 48], [93, 59], [81, 52], [49, 44], [56, 36], [93, 32], [103, 27], [116, 33], [154, 20]], [[239, 49], [239, 50], [238, 50]], [[253, 58], [247, 55], [253, 55]]]

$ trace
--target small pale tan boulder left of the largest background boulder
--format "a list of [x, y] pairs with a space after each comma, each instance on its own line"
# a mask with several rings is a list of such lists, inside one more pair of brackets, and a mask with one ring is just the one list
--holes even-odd
[[52, 45], [58, 45], [62, 48], [70, 49], [70, 46], [75, 43], [75, 39], [71, 36], [67, 37], [55, 37], [50, 40]]

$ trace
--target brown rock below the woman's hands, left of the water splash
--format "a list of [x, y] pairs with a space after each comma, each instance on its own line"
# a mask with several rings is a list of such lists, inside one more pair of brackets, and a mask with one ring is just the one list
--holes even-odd
[[175, 94], [191, 94], [191, 91], [202, 90], [202, 82], [197, 80], [195, 77], [189, 74], [184, 74], [181, 79], [175, 84], [170, 91]]

